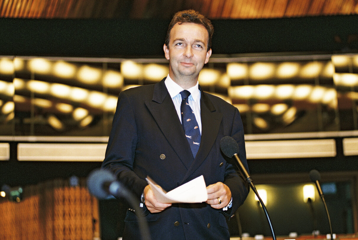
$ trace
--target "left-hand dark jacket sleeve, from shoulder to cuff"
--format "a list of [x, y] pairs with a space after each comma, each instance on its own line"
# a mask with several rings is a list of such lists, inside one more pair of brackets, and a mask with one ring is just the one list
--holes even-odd
[[121, 92], [102, 168], [110, 169], [126, 187], [140, 197], [147, 182], [133, 171], [136, 143], [137, 128], [133, 106], [127, 94]]

